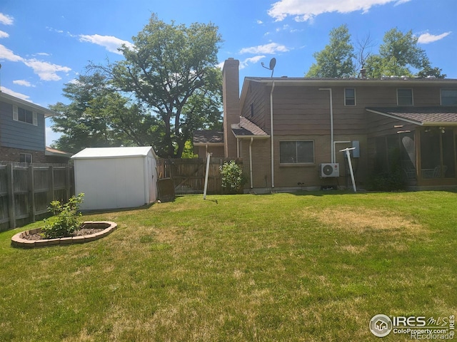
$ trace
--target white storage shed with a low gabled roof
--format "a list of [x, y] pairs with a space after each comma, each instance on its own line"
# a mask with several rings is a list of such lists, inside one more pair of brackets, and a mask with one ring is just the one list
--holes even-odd
[[87, 147], [74, 160], [81, 210], [140, 207], [156, 201], [156, 154], [152, 147]]

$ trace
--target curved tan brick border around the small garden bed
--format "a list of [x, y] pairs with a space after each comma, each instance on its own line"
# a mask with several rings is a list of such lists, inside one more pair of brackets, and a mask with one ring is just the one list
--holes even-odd
[[86, 242], [101, 239], [102, 237], [106, 237], [106, 235], [111, 234], [111, 232], [113, 232], [114, 229], [116, 229], [117, 224], [115, 222], [110, 221], [86, 221], [83, 222], [83, 226], [84, 228], [104, 228], [104, 230], [95, 234], [83, 235], [81, 237], [61, 237], [60, 239], [41, 240], [23, 239], [27, 235], [33, 235], [41, 232], [41, 228], [35, 228], [15, 234], [13, 237], [11, 237], [11, 246], [21, 248], [35, 248], [55, 246], [57, 244], [84, 244]]

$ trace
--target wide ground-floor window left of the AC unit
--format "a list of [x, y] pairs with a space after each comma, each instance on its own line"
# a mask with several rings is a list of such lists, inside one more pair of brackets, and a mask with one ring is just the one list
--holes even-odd
[[313, 164], [314, 142], [304, 141], [281, 141], [279, 142], [280, 164]]

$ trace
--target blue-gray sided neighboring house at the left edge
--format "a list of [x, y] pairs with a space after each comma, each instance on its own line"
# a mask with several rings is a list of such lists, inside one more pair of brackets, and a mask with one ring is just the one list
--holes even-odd
[[54, 114], [0, 91], [0, 160], [48, 162], [44, 119]]

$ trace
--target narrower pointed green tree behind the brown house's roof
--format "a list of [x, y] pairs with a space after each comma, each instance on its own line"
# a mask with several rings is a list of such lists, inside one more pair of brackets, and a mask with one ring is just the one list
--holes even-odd
[[351, 44], [351, 34], [348, 26], [341, 25], [330, 31], [330, 42], [313, 54], [316, 63], [313, 63], [305, 77], [345, 77], [353, 76], [355, 66], [353, 63], [354, 48]]

